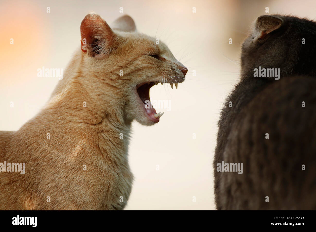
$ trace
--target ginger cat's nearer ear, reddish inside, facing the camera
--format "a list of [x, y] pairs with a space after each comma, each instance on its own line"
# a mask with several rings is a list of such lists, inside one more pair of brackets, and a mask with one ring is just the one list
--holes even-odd
[[81, 50], [97, 59], [110, 54], [124, 43], [123, 37], [115, 34], [97, 14], [88, 14], [80, 26]]

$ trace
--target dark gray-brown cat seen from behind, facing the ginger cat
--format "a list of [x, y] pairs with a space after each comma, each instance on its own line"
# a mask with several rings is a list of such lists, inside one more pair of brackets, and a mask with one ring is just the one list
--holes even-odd
[[316, 209], [315, 54], [315, 22], [258, 17], [219, 121], [218, 210]]

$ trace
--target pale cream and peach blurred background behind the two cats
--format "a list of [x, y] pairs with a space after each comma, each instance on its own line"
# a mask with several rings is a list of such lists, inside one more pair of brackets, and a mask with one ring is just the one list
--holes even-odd
[[18, 130], [47, 102], [58, 77], [37, 77], [37, 69], [66, 68], [80, 47], [86, 14], [94, 11], [109, 24], [128, 14], [139, 32], [160, 38], [189, 71], [178, 90], [151, 88], [151, 100], [171, 103], [170, 111], [156, 108], [165, 111], [158, 124], [133, 123], [129, 163], [135, 181], [125, 209], [214, 210], [217, 121], [239, 80], [242, 41], [260, 15], [314, 20], [315, 9], [312, 0], [0, 0], [0, 130]]

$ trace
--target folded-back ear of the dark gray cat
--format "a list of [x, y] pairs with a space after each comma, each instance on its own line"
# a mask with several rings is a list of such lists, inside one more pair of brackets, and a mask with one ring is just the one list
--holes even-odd
[[258, 39], [265, 39], [267, 35], [280, 28], [282, 20], [272, 15], [262, 15], [256, 21], [256, 30]]

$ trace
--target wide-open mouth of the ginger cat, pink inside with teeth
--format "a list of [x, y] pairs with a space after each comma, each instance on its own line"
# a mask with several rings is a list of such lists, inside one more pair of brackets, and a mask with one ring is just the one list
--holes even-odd
[[[138, 96], [140, 98], [143, 109], [145, 110], [147, 117], [153, 122], [159, 122], [160, 117], [164, 114], [164, 112], [162, 112], [162, 113], [156, 112], [155, 108], [152, 106], [152, 104], [150, 102], [150, 97], [149, 97], [149, 89], [152, 86], [157, 85], [158, 83], [161, 83], [161, 82], [157, 82], [157, 83], [149, 82], [149, 83], [145, 83], [143, 85], [140, 85], [137, 88], [137, 93], [138, 93]], [[170, 85], [173, 88], [173, 83], [170, 83]], [[177, 88], [178, 83], [176, 83], [175, 86]]]

